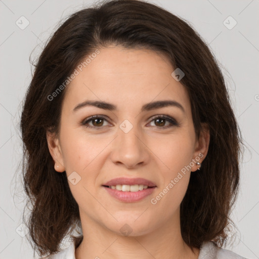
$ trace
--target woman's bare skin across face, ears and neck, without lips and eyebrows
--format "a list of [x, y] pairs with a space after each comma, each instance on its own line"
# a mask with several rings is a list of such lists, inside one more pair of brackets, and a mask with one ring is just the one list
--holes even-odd
[[[181, 81], [171, 76], [175, 69], [164, 55], [118, 46], [99, 50], [100, 54], [66, 89], [59, 136], [47, 132], [56, 171], [65, 171], [67, 176], [76, 171], [81, 177], [76, 185], [68, 181], [79, 206], [84, 236], [75, 257], [198, 258], [199, 249], [192, 252], [181, 236], [180, 203], [190, 174], [195, 174], [191, 171], [199, 165], [194, 163], [156, 204], [151, 203], [151, 198], [199, 154], [203, 155], [199, 160], [202, 163], [209, 131], [204, 124], [201, 138], [196, 138], [188, 93]], [[86, 100], [109, 102], [117, 110], [86, 106], [73, 112], [77, 104]], [[184, 112], [172, 106], [141, 112], [144, 104], [159, 100], [177, 101]], [[106, 118], [88, 122], [95, 128], [81, 124], [92, 115]], [[155, 123], [151, 118], [154, 115], [168, 115], [179, 126], [166, 128], [170, 122]], [[125, 119], [133, 125], [128, 133], [119, 127]], [[141, 201], [122, 202], [102, 187], [117, 177], [141, 177], [157, 187]], [[132, 230], [128, 236], [120, 231], [125, 224]]]

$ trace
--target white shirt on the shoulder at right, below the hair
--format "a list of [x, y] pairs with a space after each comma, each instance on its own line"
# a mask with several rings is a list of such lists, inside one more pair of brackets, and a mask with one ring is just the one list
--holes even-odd
[[200, 248], [198, 259], [247, 259], [230, 250], [223, 249], [211, 241], [204, 242]]

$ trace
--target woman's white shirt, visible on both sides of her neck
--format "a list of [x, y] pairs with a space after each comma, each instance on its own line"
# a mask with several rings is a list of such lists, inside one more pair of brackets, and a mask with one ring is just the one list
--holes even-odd
[[[75, 259], [75, 245], [74, 242], [66, 249], [51, 256], [42, 257], [40, 259]], [[212, 242], [204, 242], [200, 248], [198, 259], [247, 259], [230, 250], [219, 248]]]

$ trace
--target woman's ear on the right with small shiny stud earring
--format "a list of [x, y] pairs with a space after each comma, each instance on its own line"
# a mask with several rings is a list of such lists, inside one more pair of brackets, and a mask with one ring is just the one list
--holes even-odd
[[209, 146], [209, 127], [207, 123], [201, 123], [202, 130], [200, 134], [200, 138], [196, 140], [195, 149], [193, 153], [194, 166], [192, 166], [191, 171], [196, 171], [201, 165], [196, 164], [196, 162], [202, 163], [208, 153], [208, 146]]

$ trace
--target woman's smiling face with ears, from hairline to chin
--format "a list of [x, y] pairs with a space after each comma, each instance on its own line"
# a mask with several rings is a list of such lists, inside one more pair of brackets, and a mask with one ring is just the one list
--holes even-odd
[[[209, 135], [196, 140], [188, 93], [174, 70], [162, 54], [110, 46], [67, 87], [60, 135], [47, 136], [82, 225], [137, 236], [180, 224], [180, 203], [191, 171], [199, 168], [195, 162], [206, 156]], [[83, 105], [87, 101], [109, 105]], [[116, 189], [105, 187], [114, 179]]]

